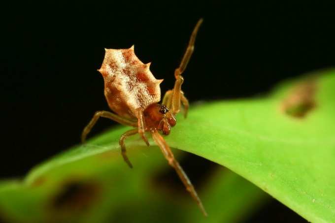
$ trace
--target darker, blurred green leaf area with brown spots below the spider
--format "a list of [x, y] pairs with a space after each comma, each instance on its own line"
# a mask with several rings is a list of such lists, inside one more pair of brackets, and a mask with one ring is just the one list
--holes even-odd
[[[117, 136], [122, 130], [108, 135]], [[104, 137], [98, 137], [94, 143], [41, 164], [24, 182], [3, 181], [1, 222], [236, 222], [266, 201], [263, 191], [221, 167], [199, 191], [211, 210], [205, 218], [183, 187], [169, 191], [154, 180], [170, 169], [157, 147], [130, 145], [134, 164], [130, 169], [120, 156], [118, 144], [98, 146], [103, 141]], [[176, 155], [180, 158], [181, 154]]]

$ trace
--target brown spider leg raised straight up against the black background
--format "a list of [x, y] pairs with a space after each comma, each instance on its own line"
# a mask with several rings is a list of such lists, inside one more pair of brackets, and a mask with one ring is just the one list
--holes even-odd
[[173, 88], [173, 96], [172, 96], [172, 113], [176, 114], [179, 112], [180, 110], [180, 99], [181, 99], [181, 85], [184, 82], [184, 78], [181, 76], [181, 74], [184, 72], [188, 62], [190, 61], [190, 58], [193, 54], [194, 51], [194, 43], [196, 41], [196, 36], [197, 36], [197, 32], [199, 30], [199, 27], [202, 23], [202, 19], [200, 19], [196, 25], [196, 27], [194, 28], [191, 37], [190, 37], [190, 41], [189, 41], [189, 45], [186, 49], [186, 52], [183, 56], [183, 59], [181, 60], [181, 63], [179, 65], [179, 67], [177, 69], [174, 70], [174, 77], [176, 78], [176, 81], [174, 83], [174, 88]]

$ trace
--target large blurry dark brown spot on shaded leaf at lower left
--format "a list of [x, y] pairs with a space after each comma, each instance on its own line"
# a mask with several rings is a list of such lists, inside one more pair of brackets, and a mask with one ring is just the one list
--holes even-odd
[[51, 206], [57, 211], [85, 211], [99, 198], [99, 194], [100, 187], [97, 182], [72, 180], [56, 193]]

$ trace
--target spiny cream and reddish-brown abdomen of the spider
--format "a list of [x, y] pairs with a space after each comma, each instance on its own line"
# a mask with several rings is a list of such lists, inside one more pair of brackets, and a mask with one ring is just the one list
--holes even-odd
[[144, 111], [161, 100], [160, 83], [129, 49], [105, 49], [99, 69], [104, 79], [104, 95], [112, 111], [126, 118], [137, 118], [136, 111]]

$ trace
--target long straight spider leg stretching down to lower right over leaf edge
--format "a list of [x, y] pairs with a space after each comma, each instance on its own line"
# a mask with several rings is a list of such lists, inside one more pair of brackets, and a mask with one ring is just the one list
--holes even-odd
[[186, 187], [186, 190], [189, 191], [191, 193], [191, 196], [196, 200], [203, 215], [207, 216], [207, 213], [201, 203], [201, 200], [196, 190], [194, 189], [190, 179], [187, 177], [184, 170], [179, 165], [178, 161], [174, 159], [174, 156], [170, 150], [170, 147], [167, 145], [167, 142], [164, 140], [164, 138], [160, 135], [160, 133], [156, 129], [151, 130], [151, 134], [152, 134], [152, 138], [154, 139], [154, 141], [161, 148], [163, 155], [168, 161], [168, 164], [170, 164], [175, 169], [180, 180], [183, 182], [184, 186]]

